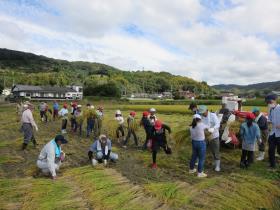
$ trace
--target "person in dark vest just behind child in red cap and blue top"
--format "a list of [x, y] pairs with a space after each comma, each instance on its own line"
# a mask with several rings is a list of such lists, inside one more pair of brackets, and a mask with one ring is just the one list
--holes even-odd
[[260, 112], [259, 107], [254, 107], [252, 113], [255, 116], [255, 122], [258, 124], [261, 132], [262, 142], [259, 144], [259, 156], [257, 160], [263, 160], [265, 155], [265, 145], [268, 139], [268, 122], [267, 118]]

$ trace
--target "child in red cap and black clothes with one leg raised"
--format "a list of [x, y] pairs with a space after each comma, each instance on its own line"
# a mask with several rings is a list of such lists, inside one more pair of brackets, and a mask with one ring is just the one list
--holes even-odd
[[166, 154], [171, 154], [171, 148], [168, 147], [166, 141], [166, 130], [168, 133], [171, 133], [171, 129], [169, 126], [163, 124], [161, 121], [156, 120], [155, 125], [151, 130], [151, 138], [152, 138], [152, 158], [153, 164], [152, 169], [157, 168], [157, 152], [162, 147]]

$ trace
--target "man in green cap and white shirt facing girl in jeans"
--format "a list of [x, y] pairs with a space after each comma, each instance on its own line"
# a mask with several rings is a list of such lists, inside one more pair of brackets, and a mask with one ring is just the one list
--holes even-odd
[[201, 114], [202, 122], [209, 127], [208, 131], [211, 133], [209, 139], [209, 147], [214, 159], [214, 170], [219, 172], [221, 170], [221, 157], [220, 157], [220, 140], [219, 140], [219, 128], [220, 121], [215, 113], [209, 112], [207, 106], [201, 105], [198, 108]]

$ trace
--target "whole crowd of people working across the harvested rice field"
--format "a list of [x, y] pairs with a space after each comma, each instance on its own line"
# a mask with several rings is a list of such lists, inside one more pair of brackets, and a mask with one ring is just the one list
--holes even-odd
[[[254, 161], [254, 151], [256, 144], [259, 146], [259, 156], [257, 160], [263, 160], [265, 156], [265, 147], [268, 140], [269, 144], [269, 163], [271, 168], [276, 167], [275, 150], [277, 146], [280, 148], [280, 105], [277, 104], [276, 95], [268, 95], [265, 98], [269, 106], [268, 118], [264, 116], [258, 107], [253, 108], [251, 113], [246, 116], [246, 121], [240, 127], [240, 139], [242, 141], [242, 154], [240, 160], [240, 167], [248, 168]], [[110, 138], [101, 133], [102, 119], [104, 117], [103, 108], [87, 104], [86, 108], [82, 110], [82, 106], [77, 103], [71, 103], [71, 110], [68, 111], [68, 106], [65, 103], [59, 110], [57, 106], [57, 115], [62, 120], [61, 133], [66, 133], [68, 114], [70, 113], [71, 129], [77, 131], [82, 129], [82, 122], [86, 120], [87, 136], [93, 132], [95, 140], [88, 151], [88, 158], [92, 165], [104, 163], [107, 165], [109, 161], [117, 161], [118, 155], [112, 152], [112, 141]], [[34, 138], [33, 130], [38, 131], [38, 126], [34, 121], [32, 111], [34, 106], [31, 103], [23, 105], [23, 112], [21, 117], [22, 127], [24, 133], [24, 142], [22, 149], [25, 150], [28, 143], [31, 141], [34, 146], [37, 142]], [[209, 147], [213, 156], [214, 170], [219, 172], [221, 170], [221, 155], [220, 155], [220, 124], [216, 113], [210, 112], [207, 106], [201, 105], [192, 107], [194, 111], [193, 120], [190, 125], [190, 133], [192, 139], [192, 156], [189, 163], [189, 173], [197, 172], [198, 177], [207, 177], [204, 173], [204, 162], [206, 157], [206, 136], [209, 142]], [[40, 109], [41, 112], [41, 109]], [[44, 116], [44, 115], [43, 115]], [[134, 138], [135, 145], [138, 146], [138, 138], [135, 132], [136, 112], [130, 112], [127, 117], [127, 135], [125, 136], [125, 120], [120, 110], [115, 112], [115, 121], [118, 124], [116, 128], [116, 137], [123, 148], [127, 148], [127, 144], [131, 136]], [[272, 130], [269, 133], [268, 124], [272, 124]], [[160, 121], [156, 117], [156, 110], [151, 108], [149, 111], [142, 113], [140, 121], [146, 133], [143, 149], [149, 149], [152, 153], [153, 169], [157, 168], [157, 153], [162, 148], [166, 154], [171, 154], [172, 150], [168, 145], [168, 134], [171, 129], [168, 125]], [[56, 171], [59, 169], [61, 163], [65, 159], [65, 153], [61, 149], [62, 144], [68, 141], [63, 135], [57, 135], [48, 144], [46, 144], [40, 152], [37, 166], [43, 173], [50, 173], [53, 179], [56, 179]], [[196, 169], [197, 165], [197, 169]]]

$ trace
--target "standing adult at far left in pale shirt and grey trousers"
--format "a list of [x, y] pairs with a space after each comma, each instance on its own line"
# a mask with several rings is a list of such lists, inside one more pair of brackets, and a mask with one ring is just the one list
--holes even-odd
[[32, 141], [33, 145], [36, 146], [37, 142], [34, 137], [34, 132], [33, 128], [35, 128], [36, 131], [38, 131], [38, 126], [35, 123], [35, 120], [33, 118], [33, 112], [34, 107], [30, 103], [24, 104], [24, 111], [22, 113], [21, 117], [21, 131], [23, 132], [24, 135], [24, 140], [22, 144], [22, 150], [25, 150], [28, 143]]

